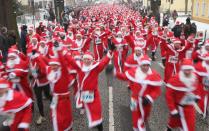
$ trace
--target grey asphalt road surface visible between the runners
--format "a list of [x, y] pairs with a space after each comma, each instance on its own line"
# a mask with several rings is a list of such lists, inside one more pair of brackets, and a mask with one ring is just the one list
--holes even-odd
[[[160, 66], [159, 55], [157, 54], [157, 61], [152, 62], [152, 68], [157, 70], [163, 77], [163, 68]], [[107, 83], [109, 79], [109, 84]], [[109, 87], [112, 86], [112, 104], [113, 104], [113, 115], [109, 116]], [[152, 113], [149, 119], [149, 125], [151, 131], [164, 131], [166, 129], [166, 123], [168, 118], [168, 109], [165, 103], [165, 87], [162, 86], [162, 95], [157, 99], [152, 108]], [[131, 126], [131, 112], [129, 108], [129, 90], [127, 89], [127, 83], [117, 80], [112, 75], [106, 75], [103, 71], [99, 77], [99, 90], [102, 99], [103, 107], [103, 126], [104, 131], [132, 131]], [[72, 93], [71, 93], [72, 96]], [[75, 109], [73, 98], [73, 130], [74, 131], [94, 131], [95, 129], [89, 129], [87, 126], [86, 115], [80, 115], [79, 110]], [[52, 126], [49, 117], [49, 101], [44, 100], [46, 121], [42, 125], [38, 126], [35, 124], [35, 120], [38, 117], [37, 107], [35, 108], [33, 115], [33, 123], [31, 124], [31, 131], [52, 131]], [[96, 107], [95, 107], [96, 108]], [[3, 118], [1, 117], [1, 120]], [[114, 124], [109, 124], [109, 119], [114, 119]], [[112, 127], [112, 128], [110, 128]], [[111, 129], [111, 130], [109, 130]], [[96, 131], [96, 130], [95, 130]], [[209, 131], [209, 119], [202, 120], [197, 114], [196, 131]]]

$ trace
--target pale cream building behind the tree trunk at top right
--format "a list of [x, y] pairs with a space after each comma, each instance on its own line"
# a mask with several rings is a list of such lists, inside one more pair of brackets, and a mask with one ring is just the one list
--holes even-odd
[[[160, 10], [162, 12], [167, 11], [169, 9], [170, 11], [176, 10], [178, 12], [184, 12], [185, 3], [186, 3], [185, 0], [161, 0]], [[191, 12], [191, 9], [192, 9], [192, 0], [188, 0], [187, 11]]]

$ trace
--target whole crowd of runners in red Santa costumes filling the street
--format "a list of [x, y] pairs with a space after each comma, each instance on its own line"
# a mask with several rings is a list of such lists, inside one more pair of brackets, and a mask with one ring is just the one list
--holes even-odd
[[[82, 19], [70, 21], [66, 32], [56, 22], [29, 27], [27, 51], [16, 45], [9, 49], [6, 63], [0, 63], [0, 114], [8, 116], [4, 126], [12, 131], [29, 130], [34, 103], [40, 114], [36, 123], [42, 124], [46, 119], [44, 92], [51, 101], [54, 131], [73, 130], [70, 95], [80, 115], [87, 115], [89, 128], [102, 131], [98, 77], [111, 59], [114, 76], [127, 81], [131, 92], [134, 131], [149, 127], [151, 108], [163, 84], [170, 111], [167, 131], [194, 131], [195, 110], [207, 118], [209, 40], [198, 44], [203, 38], [195, 32], [177, 37], [155, 17], [143, 18], [124, 5], [90, 6], [83, 8], [80, 16]], [[158, 48], [165, 66], [164, 80], [151, 68]]]

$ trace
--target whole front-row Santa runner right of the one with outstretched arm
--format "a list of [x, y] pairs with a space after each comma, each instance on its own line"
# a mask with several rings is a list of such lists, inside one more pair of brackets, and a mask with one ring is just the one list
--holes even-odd
[[195, 131], [195, 108], [200, 99], [198, 76], [191, 59], [182, 61], [180, 71], [166, 84], [166, 102], [170, 111], [167, 131], [180, 128]]

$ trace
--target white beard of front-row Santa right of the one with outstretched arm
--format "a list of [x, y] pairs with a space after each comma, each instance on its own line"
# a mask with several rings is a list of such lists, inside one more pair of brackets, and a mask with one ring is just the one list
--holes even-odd
[[196, 76], [194, 73], [188, 78], [184, 75], [183, 71], [179, 71], [179, 79], [182, 83], [184, 83], [188, 88], [193, 88], [194, 83], [196, 82]]

